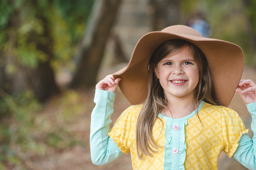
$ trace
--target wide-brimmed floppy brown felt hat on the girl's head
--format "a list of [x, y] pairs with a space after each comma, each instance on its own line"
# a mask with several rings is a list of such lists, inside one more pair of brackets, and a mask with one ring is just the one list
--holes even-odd
[[227, 41], [204, 38], [196, 30], [184, 25], [145, 34], [136, 44], [129, 64], [113, 74], [114, 78], [122, 78], [119, 87], [128, 101], [132, 105], [144, 103], [151, 55], [160, 44], [172, 39], [189, 41], [203, 51], [213, 75], [216, 98], [221, 105], [227, 107], [243, 73], [242, 49]]

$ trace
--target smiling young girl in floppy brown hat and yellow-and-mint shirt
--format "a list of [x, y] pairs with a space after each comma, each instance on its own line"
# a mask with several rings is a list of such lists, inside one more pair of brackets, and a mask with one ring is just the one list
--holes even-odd
[[[131, 153], [134, 170], [206, 170], [218, 168], [224, 151], [256, 169], [256, 135], [250, 139], [237, 112], [225, 107], [237, 91], [255, 133], [256, 85], [240, 80], [243, 67], [239, 46], [203, 38], [190, 27], [144, 35], [128, 66], [96, 85], [92, 162], [104, 165]], [[132, 106], [109, 132], [118, 85]]]

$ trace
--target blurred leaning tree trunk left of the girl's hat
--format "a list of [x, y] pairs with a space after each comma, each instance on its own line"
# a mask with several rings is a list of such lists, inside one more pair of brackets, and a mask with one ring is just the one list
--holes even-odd
[[104, 55], [105, 44], [115, 21], [121, 0], [96, 0], [83, 42], [76, 56], [79, 60], [70, 87], [94, 86]]

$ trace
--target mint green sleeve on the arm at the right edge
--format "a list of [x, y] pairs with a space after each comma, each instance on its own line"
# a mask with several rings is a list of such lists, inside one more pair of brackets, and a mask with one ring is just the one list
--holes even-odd
[[244, 167], [250, 170], [256, 170], [256, 102], [246, 106], [252, 115], [251, 130], [253, 132], [253, 137], [251, 139], [247, 134], [242, 135], [233, 158], [240, 162]]

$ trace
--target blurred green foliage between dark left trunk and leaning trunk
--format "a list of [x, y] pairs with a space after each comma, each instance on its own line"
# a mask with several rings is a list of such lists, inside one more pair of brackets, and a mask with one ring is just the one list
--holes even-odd
[[62, 65], [71, 70], [74, 68], [70, 60], [83, 37], [93, 2], [94, 0], [53, 1], [54, 15], [51, 16], [51, 23], [55, 58], [51, 64], [55, 70]]

